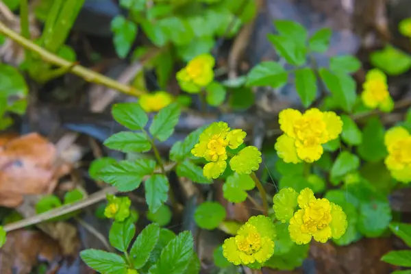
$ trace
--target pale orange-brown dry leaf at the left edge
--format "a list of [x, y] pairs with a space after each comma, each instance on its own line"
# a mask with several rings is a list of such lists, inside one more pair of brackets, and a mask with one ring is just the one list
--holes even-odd
[[15, 208], [24, 195], [51, 193], [70, 171], [57, 162], [54, 145], [36, 133], [5, 142], [0, 147], [0, 206]]

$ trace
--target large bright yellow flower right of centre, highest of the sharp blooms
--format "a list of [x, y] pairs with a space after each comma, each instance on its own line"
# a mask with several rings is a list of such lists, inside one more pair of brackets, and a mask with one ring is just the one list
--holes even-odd
[[338, 138], [343, 121], [335, 112], [311, 108], [304, 114], [288, 108], [279, 112], [279, 125], [284, 134], [277, 138], [275, 149], [284, 162], [314, 162], [323, 154], [323, 144]]

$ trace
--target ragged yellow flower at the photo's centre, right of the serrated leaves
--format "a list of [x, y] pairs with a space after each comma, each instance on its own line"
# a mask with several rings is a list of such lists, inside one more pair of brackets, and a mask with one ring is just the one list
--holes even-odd
[[199, 137], [199, 142], [191, 149], [192, 155], [202, 157], [209, 163], [204, 166], [203, 175], [218, 178], [227, 167], [226, 148], [236, 149], [244, 142], [247, 134], [241, 129], [230, 131], [227, 123], [212, 123]]

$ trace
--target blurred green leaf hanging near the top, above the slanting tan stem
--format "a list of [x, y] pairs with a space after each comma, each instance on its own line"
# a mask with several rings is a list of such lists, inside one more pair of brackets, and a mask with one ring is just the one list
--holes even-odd
[[132, 21], [128, 21], [124, 16], [117, 15], [112, 20], [111, 29], [114, 34], [116, 53], [119, 57], [125, 58], [136, 39], [137, 25]]

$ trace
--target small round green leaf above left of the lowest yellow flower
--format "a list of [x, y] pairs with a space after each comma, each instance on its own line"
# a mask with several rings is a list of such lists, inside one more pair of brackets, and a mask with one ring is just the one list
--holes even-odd
[[225, 214], [225, 208], [220, 203], [206, 201], [195, 210], [194, 220], [203, 229], [214, 229], [225, 219]]

